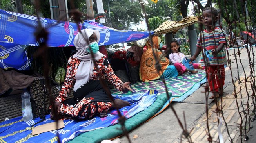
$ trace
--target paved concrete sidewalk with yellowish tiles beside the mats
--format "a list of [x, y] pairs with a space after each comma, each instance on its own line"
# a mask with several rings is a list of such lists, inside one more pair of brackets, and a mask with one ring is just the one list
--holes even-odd
[[[238, 50], [235, 49], [237, 52]], [[234, 50], [229, 50], [230, 59], [234, 59]], [[241, 50], [241, 63], [246, 71], [246, 76], [249, 75], [249, 60], [247, 55], [247, 50], [243, 48]], [[238, 61], [239, 62], [239, 61]], [[229, 68], [229, 67], [228, 67]], [[238, 69], [236, 66], [236, 62], [231, 64], [231, 70], [233, 73], [233, 79], [238, 78], [238, 72], [240, 75], [240, 80], [244, 79], [244, 73], [242, 69], [242, 65], [240, 62], [238, 63]], [[241, 122], [241, 118], [238, 114], [238, 110], [236, 107], [236, 100], [234, 98], [234, 86], [232, 84], [231, 71], [226, 68], [225, 71], [225, 86], [224, 86], [224, 95], [222, 105], [225, 105], [223, 109], [224, 117], [228, 125], [229, 134], [231, 135], [233, 142], [241, 142], [240, 141], [240, 131], [239, 131], [239, 123]], [[235, 82], [236, 89], [239, 89], [239, 84]], [[248, 85], [250, 88], [250, 85]], [[247, 102], [247, 94], [245, 93], [245, 84], [241, 84], [241, 92], [242, 92], [242, 102], [243, 106]], [[207, 126], [206, 126], [206, 108], [209, 109], [209, 128], [210, 134], [212, 136], [213, 141], [218, 141], [218, 120], [215, 111], [216, 105], [213, 100], [208, 99], [208, 106], [206, 105], [206, 97], [204, 87], [200, 87], [196, 90], [192, 95], [186, 98], [183, 102], [172, 102], [176, 113], [178, 114], [179, 119], [184, 124], [183, 113], [185, 114], [186, 128], [191, 132], [191, 140], [194, 143], [205, 143], [207, 141]], [[238, 92], [239, 90], [236, 90]], [[252, 92], [249, 90], [249, 92]], [[241, 102], [240, 102], [240, 94], [238, 94], [238, 105], [241, 111]], [[251, 93], [249, 93], [251, 95]], [[211, 94], [209, 95], [209, 97]], [[252, 100], [249, 100], [252, 102]], [[218, 101], [220, 103], [220, 100]], [[250, 104], [252, 105], [252, 104]], [[246, 108], [246, 107], [245, 107]], [[242, 115], [242, 117], [244, 117]], [[244, 120], [244, 119], [243, 119]], [[222, 119], [223, 121], [223, 119]], [[243, 123], [244, 125], [244, 123]], [[222, 127], [220, 128], [223, 136], [223, 140], [225, 143], [229, 143], [229, 136], [227, 134], [226, 126], [223, 122]], [[186, 139], [182, 138], [182, 128], [178, 124], [177, 118], [174, 116], [174, 113], [170, 108], [165, 109], [161, 114], [154, 117], [149, 122], [146, 122], [136, 129], [129, 132], [129, 137], [132, 143], [176, 143], [176, 142], [187, 142]], [[254, 137], [255, 138], [255, 137]], [[128, 143], [128, 139], [125, 136], [120, 137], [121, 143]], [[249, 139], [250, 141], [250, 139]], [[219, 142], [219, 141], [218, 141]], [[252, 143], [252, 142], [251, 142]]]

